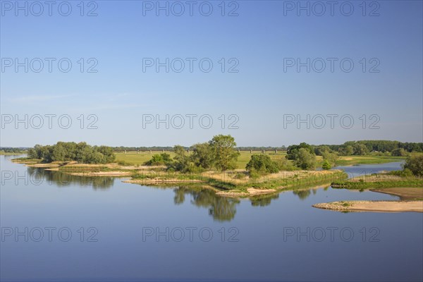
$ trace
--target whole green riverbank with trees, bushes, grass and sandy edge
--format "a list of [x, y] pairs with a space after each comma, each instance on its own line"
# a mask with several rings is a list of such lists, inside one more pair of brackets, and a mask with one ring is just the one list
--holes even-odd
[[[118, 153], [116, 159], [111, 147], [90, 146], [85, 142], [58, 142], [56, 145], [35, 145], [34, 148], [28, 150], [26, 161], [33, 166], [44, 168], [50, 164], [51, 170], [73, 175], [132, 176], [130, 180], [132, 183], [145, 185], [201, 182], [214, 188], [240, 192], [243, 195], [248, 195], [250, 190], [276, 192], [281, 189], [326, 183], [350, 189], [419, 187], [421, 185], [419, 177], [423, 176], [422, 154], [410, 154], [403, 147], [393, 149], [393, 153], [395, 152], [398, 157], [388, 157], [381, 152], [368, 154], [369, 148], [366, 144], [347, 142], [347, 145], [335, 151], [336, 148], [329, 145], [313, 146], [301, 143], [288, 147], [286, 152], [252, 154], [252, 152], [239, 152], [231, 135], [216, 135], [212, 140], [192, 145], [188, 149], [176, 145], [172, 152], [159, 154]], [[381, 146], [381, 144], [392, 145], [393, 143], [372, 144], [372, 146]], [[400, 143], [395, 144], [398, 146]], [[352, 150], [348, 146], [351, 146]], [[353, 156], [341, 156], [344, 154], [342, 148]], [[405, 169], [396, 172], [396, 175], [390, 174], [390, 180], [379, 178], [377, 181], [345, 181], [347, 178], [345, 173], [327, 171], [345, 161], [360, 163], [369, 159], [380, 160], [380, 162], [400, 160], [404, 159], [401, 157], [404, 152], [409, 156]], [[362, 154], [366, 155], [362, 156]], [[123, 158], [126, 155], [133, 159]], [[135, 159], [143, 161], [135, 163], [133, 162]], [[319, 166], [324, 168], [324, 171], [314, 171], [314, 168]]]

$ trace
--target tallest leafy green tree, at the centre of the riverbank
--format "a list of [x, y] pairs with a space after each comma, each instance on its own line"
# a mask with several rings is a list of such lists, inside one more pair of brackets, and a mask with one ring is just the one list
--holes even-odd
[[216, 135], [209, 141], [214, 156], [214, 166], [221, 170], [236, 168], [236, 161], [240, 155], [235, 151], [235, 139], [231, 135]]

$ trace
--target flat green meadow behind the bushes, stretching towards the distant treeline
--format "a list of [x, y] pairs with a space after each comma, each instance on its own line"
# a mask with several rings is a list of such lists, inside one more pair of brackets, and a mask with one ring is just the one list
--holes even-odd
[[[153, 154], [160, 154], [161, 151], [158, 152], [152, 152], [150, 154], [149, 152], [140, 152], [137, 154], [137, 152], [126, 152], [125, 153], [116, 153], [116, 161], [125, 161], [125, 163], [133, 164], [133, 165], [142, 165], [145, 163], [145, 161], [148, 161], [152, 158]], [[174, 156], [173, 152], [166, 152], [171, 155], [171, 157]], [[253, 151], [252, 154], [262, 154], [262, 151]], [[240, 157], [238, 157], [237, 161], [237, 168], [244, 169], [247, 165], [248, 161], [250, 161], [251, 153], [250, 151], [243, 151], [240, 152]], [[269, 155], [271, 159], [281, 159], [285, 158], [286, 152], [279, 151], [277, 154], [274, 151], [268, 151], [265, 152], [265, 154]], [[321, 156], [317, 156], [317, 164], [320, 166], [321, 164]], [[376, 154], [367, 155], [367, 156], [345, 156], [345, 157], [339, 157], [338, 159], [338, 166], [349, 166], [354, 164], [384, 164], [391, 161], [402, 161], [405, 159], [404, 157], [386, 157], [386, 156], [377, 156]]]

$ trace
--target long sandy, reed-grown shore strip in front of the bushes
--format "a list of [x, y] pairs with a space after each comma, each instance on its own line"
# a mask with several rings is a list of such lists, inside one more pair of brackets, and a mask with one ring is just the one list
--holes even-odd
[[[183, 173], [157, 171], [162, 166], [122, 166], [113, 164], [78, 164], [75, 161], [57, 161], [49, 164], [41, 163], [36, 159], [13, 159], [13, 162], [25, 166], [43, 168], [47, 171], [57, 171], [71, 176], [88, 177], [131, 177], [123, 180], [123, 183], [141, 185], [187, 185], [204, 184], [216, 189], [216, 195], [221, 197], [254, 197], [257, 195], [270, 195], [284, 190], [296, 190], [301, 188], [326, 187], [333, 179], [346, 178], [342, 171], [280, 171], [268, 174], [260, 178], [245, 176], [239, 178], [240, 171], [204, 171], [192, 173], [188, 176]], [[147, 169], [146, 169], [147, 168]], [[138, 174], [142, 173], [142, 178]], [[243, 172], [242, 172], [243, 173]]]

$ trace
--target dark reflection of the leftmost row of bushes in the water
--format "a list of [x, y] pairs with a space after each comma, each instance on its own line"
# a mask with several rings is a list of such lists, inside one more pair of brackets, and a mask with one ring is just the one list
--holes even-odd
[[108, 189], [114, 184], [113, 177], [106, 176], [71, 176], [70, 174], [61, 173], [59, 171], [46, 171], [44, 168], [28, 167], [28, 176], [32, 183], [54, 183], [55, 185], [68, 186], [68, 185], [82, 185], [92, 186], [94, 190]]

